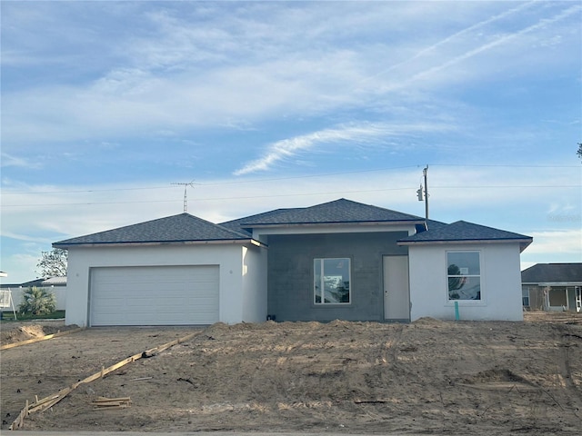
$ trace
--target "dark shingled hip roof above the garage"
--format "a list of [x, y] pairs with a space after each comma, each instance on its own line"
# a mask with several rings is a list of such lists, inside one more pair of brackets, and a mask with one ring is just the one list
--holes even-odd
[[53, 243], [54, 247], [67, 248], [79, 245], [135, 244], [135, 243], [188, 243], [249, 241], [245, 233], [210, 223], [189, 213], [159, 218], [87, 234], [77, 238]]

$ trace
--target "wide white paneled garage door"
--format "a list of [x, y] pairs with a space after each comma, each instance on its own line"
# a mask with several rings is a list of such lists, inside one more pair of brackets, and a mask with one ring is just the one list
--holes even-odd
[[90, 325], [212, 324], [218, 266], [92, 268]]

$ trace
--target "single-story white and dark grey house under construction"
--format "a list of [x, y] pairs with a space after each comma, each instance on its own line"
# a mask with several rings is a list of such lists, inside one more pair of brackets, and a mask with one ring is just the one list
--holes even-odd
[[[181, 213], [54, 243], [68, 250], [66, 322], [523, 319], [532, 238], [346, 199], [227, 223]], [[456, 308], [457, 306], [457, 308]]]

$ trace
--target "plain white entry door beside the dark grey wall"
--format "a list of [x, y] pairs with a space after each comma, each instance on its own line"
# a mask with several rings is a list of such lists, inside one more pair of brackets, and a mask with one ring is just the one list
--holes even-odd
[[384, 318], [410, 321], [408, 256], [384, 256]]

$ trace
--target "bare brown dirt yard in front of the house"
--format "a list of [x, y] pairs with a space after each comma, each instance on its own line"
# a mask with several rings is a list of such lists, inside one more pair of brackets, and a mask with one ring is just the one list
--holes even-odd
[[[15, 341], [10, 331], [20, 327], [3, 323], [2, 343]], [[193, 339], [31, 414], [24, 429], [567, 435], [582, 428], [582, 314], [528, 313], [526, 322], [76, 332], [2, 352], [2, 430], [35, 395], [191, 332]], [[95, 410], [97, 396], [132, 404]]]

